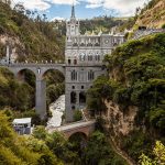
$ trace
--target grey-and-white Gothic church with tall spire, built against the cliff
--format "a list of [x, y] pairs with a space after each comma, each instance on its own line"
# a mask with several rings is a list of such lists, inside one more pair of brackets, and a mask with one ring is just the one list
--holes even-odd
[[66, 22], [65, 45], [65, 108], [66, 120], [73, 121], [74, 111], [86, 107], [86, 91], [92, 88], [92, 81], [106, 74], [102, 61], [106, 54], [124, 42], [121, 34], [80, 34], [79, 21], [75, 16], [75, 8], [72, 8], [72, 16]]

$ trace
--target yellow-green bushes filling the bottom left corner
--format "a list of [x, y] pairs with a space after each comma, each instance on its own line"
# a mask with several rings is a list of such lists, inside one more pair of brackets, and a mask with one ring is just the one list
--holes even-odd
[[0, 112], [0, 164], [62, 165], [43, 141], [14, 133], [9, 118]]

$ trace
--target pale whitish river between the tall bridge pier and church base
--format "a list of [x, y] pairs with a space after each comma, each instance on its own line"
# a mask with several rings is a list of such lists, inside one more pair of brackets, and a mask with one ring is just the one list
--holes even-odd
[[50, 106], [50, 111], [53, 117], [48, 119], [47, 128], [59, 127], [62, 124], [62, 116], [65, 111], [65, 95], [61, 96]]

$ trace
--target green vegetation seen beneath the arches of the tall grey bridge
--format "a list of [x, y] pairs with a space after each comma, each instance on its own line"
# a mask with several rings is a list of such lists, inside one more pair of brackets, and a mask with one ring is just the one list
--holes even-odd
[[[7, 68], [0, 68], [0, 109], [10, 113], [11, 118], [32, 117], [33, 123], [38, 124], [35, 113], [35, 76], [30, 70], [22, 70], [20, 79]], [[23, 79], [21, 78], [23, 77]], [[64, 76], [56, 70], [45, 73], [47, 110], [48, 106], [64, 94]]]

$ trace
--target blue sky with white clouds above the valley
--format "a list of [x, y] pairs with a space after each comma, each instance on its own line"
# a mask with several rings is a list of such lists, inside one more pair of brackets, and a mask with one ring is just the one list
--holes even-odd
[[131, 16], [138, 7], [144, 7], [150, 0], [12, 0], [21, 2], [29, 10], [46, 13], [48, 20], [70, 18], [73, 3], [76, 18], [90, 19], [99, 15]]

